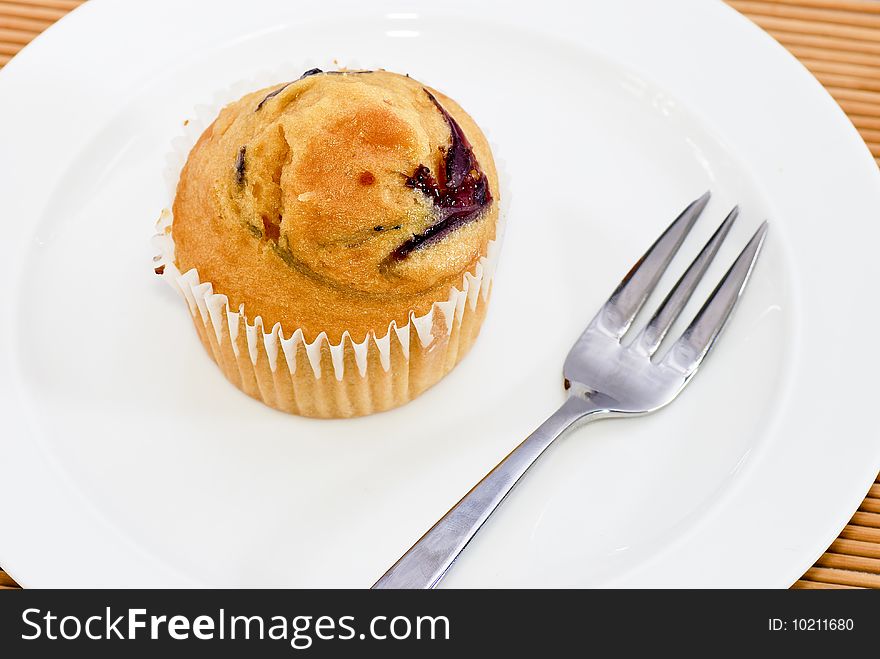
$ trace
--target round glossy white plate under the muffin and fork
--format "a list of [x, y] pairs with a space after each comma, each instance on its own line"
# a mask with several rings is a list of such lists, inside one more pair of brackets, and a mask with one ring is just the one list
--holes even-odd
[[[679, 271], [735, 201], [710, 279], [771, 232], [704, 372], [555, 446], [445, 585], [792, 583], [880, 468], [880, 175], [855, 129], [721, 3], [365, 4], [97, 0], [0, 71], [0, 565], [25, 586], [369, 586], [563, 400], [569, 345], [711, 188]], [[312, 421], [226, 383], [150, 235], [195, 106], [334, 59], [458, 99], [512, 184], [471, 356], [402, 409]]]

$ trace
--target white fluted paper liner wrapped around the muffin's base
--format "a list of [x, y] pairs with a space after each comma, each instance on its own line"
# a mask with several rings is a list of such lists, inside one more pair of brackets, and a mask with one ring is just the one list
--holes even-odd
[[[204, 129], [228, 102], [249, 90], [269, 86], [283, 74], [263, 75], [218, 94], [172, 143], [166, 182], [173, 200], [180, 172]], [[268, 81], [267, 81], [268, 80]], [[171, 203], [169, 201], [168, 206]], [[499, 214], [500, 216], [501, 214]], [[369, 332], [356, 343], [345, 331], [339, 343], [321, 332], [311, 342], [301, 329], [276, 323], [268, 331], [260, 316], [250, 318], [244, 305], [231, 309], [211, 282], [193, 268], [181, 273], [174, 258], [173, 216], [162, 211], [154, 236], [156, 273], [187, 302], [193, 324], [208, 354], [226, 378], [248, 395], [284, 412], [340, 418], [381, 412], [402, 405], [439, 381], [467, 354], [486, 315], [492, 276], [500, 250], [502, 223], [487, 253], [453, 286], [446, 300], [401, 327], [395, 321], [379, 336]]]

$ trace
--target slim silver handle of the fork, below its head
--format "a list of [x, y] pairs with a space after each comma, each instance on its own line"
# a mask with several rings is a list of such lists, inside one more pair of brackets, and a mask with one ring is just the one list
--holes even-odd
[[434, 588], [483, 523], [553, 441], [602, 409], [572, 395], [490, 471], [389, 569], [373, 588]]

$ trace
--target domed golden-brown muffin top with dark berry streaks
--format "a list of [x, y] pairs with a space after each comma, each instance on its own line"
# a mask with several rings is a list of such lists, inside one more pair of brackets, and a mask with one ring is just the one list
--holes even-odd
[[226, 106], [181, 173], [177, 265], [285, 336], [382, 336], [448, 298], [498, 219], [488, 143], [385, 71], [307, 71]]

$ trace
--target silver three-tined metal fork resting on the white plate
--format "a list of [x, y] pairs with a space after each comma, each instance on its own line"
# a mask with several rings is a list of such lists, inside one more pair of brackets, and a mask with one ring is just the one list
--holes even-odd
[[739, 208], [734, 207], [654, 315], [630, 341], [636, 315], [657, 286], [710, 193], [691, 202], [639, 259], [572, 346], [563, 367], [565, 403], [490, 471], [373, 588], [434, 588], [483, 523], [542, 453], [570, 428], [648, 414], [675, 400], [716, 345], [767, 235], [761, 224], [693, 322], [662, 356], [657, 349], [700, 283]]

